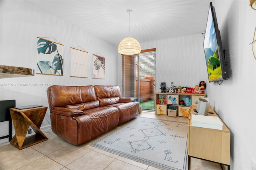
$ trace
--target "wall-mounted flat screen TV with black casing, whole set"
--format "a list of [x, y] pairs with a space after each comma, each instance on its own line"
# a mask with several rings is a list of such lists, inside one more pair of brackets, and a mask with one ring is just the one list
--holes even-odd
[[209, 82], [228, 79], [228, 65], [225, 61], [225, 51], [222, 49], [220, 31], [212, 2], [210, 2], [204, 36], [204, 54]]

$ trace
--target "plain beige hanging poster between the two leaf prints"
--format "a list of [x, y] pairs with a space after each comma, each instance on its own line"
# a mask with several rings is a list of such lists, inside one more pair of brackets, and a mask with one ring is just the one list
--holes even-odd
[[80, 49], [71, 49], [71, 74], [70, 77], [88, 78], [88, 52]]

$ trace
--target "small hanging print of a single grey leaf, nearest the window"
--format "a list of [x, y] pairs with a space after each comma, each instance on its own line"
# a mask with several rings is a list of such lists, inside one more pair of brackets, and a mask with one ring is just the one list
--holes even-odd
[[105, 58], [93, 54], [93, 76], [94, 79], [105, 79]]

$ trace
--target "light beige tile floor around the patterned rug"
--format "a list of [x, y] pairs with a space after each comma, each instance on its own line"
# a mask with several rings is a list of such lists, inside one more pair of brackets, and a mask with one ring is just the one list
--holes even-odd
[[[138, 117], [156, 119], [188, 120], [167, 116], [156, 116], [152, 112], [142, 112]], [[114, 130], [107, 132], [109, 134]], [[74, 146], [56, 136], [51, 129], [44, 130], [48, 140], [28, 148], [18, 150], [10, 142], [1, 144], [0, 170], [158, 170], [152, 166], [136, 162], [90, 146], [106, 134], [82, 144]], [[191, 170], [220, 170], [219, 164], [191, 158]]]

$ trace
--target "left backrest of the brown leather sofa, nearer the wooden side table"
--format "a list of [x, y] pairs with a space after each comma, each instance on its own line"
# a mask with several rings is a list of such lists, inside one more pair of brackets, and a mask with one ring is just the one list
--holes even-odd
[[99, 107], [94, 87], [53, 85], [47, 89], [50, 112], [54, 107], [68, 107], [79, 110]]

